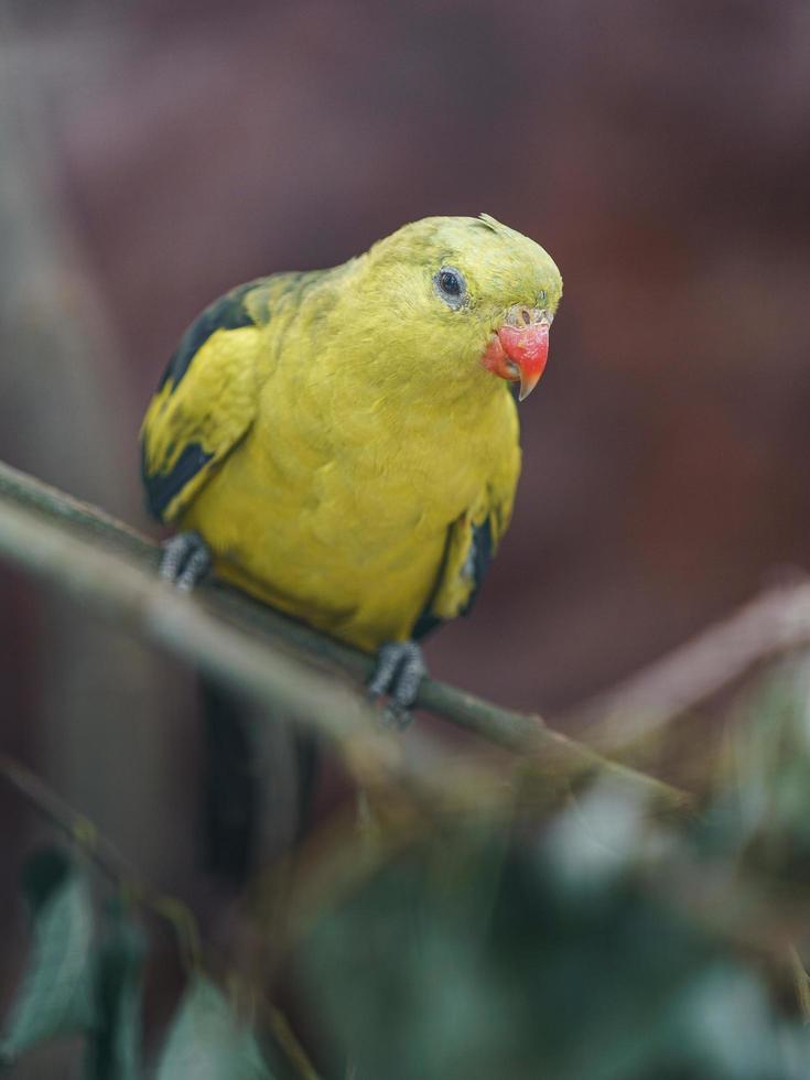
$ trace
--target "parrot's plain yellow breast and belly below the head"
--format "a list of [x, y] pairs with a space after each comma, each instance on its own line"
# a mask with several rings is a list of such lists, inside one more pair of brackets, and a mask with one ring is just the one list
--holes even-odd
[[409, 636], [449, 529], [485, 503], [494, 463], [516, 479], [515, 406], [485, 372], [424, 401], [333, 364], [279, 359], [256, 423], [182, 525], [205, 536], [220, 576], [372, 650]]

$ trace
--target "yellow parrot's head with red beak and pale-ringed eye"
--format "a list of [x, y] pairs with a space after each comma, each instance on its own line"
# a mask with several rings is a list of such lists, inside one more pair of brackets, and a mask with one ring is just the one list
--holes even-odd
[[391, 357], [454, 386], [493, 376], [519, 382], [522, 401], [549, 354], [562, 278], [533, 240], [483, 214], [431, 217], [376, 244], [360, 290], [385, 299]]

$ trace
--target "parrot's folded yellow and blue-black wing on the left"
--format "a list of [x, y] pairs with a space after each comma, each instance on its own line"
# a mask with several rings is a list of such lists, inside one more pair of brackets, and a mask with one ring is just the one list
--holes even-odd
[[270, 279], [239, 285], [183, 335], [141, 428], [147, 501], [174, 521], [256, 417]]

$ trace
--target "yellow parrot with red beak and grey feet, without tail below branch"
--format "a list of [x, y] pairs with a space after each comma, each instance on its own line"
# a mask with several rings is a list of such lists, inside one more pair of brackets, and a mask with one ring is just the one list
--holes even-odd
[[406, 225], [330, 270], [215, 301], [143, 421], [162, 573], [222, 579], [378, 663], [404, 715], [417, 641], [466, 614], [509, 522], [517, 409], [548, 356], [560, 272], [483, 214]]

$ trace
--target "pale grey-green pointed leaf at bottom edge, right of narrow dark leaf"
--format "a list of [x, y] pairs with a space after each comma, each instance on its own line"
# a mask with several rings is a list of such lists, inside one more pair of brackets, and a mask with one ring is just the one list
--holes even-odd
[[166, 1036], [155, 1080], [272, 1080], [252, 1032], [217, 987], [192, 979]]

